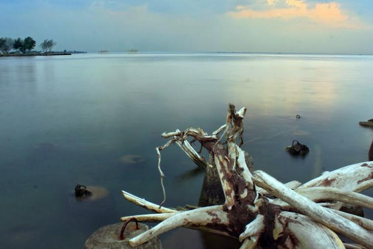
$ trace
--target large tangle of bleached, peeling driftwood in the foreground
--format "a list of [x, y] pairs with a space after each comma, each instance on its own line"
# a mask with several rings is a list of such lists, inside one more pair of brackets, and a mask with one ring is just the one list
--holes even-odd
[[[243, 242], [241, 249], [373, 249], [373, 221], [339, 210], [343, 203], [373, 208], [373, 198], [358, 193], [373, 186], [373, 163], [325, 172], [305, 184], [283, 184], [260, 170], [251, 173], [245, 152], [236, 144], [237, 138], [242, 144], [245, 113], [246, 108], [236, 111], [230, 104], [226, 123], [211, 135], [200, 128], [162, 134], [170, 138], [157, 148], [162, 187], [160, 151], [172, 143], [178, 144], [197, 165], [211, 167], [187, 141], [192, 137], [213, 158], [225, 203], [177, 211], [162, 207], [165, 191], [160, 206], [122, 191], [128, 201], [157, 213], [122, 217], [122, 221], [136, 218], [160, 222], [131, 239], [130, 245], [136, 247], [171, 229], [187, 227], [236, 237]], [[342, 243], [336, 233], [357, 244]]]

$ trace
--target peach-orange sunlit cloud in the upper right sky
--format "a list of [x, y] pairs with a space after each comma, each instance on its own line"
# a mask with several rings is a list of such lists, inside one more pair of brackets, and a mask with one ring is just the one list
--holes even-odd
[[253, 6], [238, 5], [236, 11], [230, 11], [228, 14], [234, 18], [282, 18], [286, 20], [305, 18], [313, 23], [322, 23], [330, 27], [365, 27], [358, 17], [349, 15], [338, 2], [309, 4], [306, 0], [267, 0], [265, 3], [261, 1], [259, 5], [261, 6], [259, 10], [254, 9]]

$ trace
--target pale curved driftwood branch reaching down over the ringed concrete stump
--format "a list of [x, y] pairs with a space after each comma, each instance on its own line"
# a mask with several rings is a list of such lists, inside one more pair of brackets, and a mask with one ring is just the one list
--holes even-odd
[[221, 225], [228, 224], [227, 214], [223, 211], [223, 206], [210, 206], [180, 212], [167, 220], [161, 222], [154, 228], [129, 240], [131, 247], [139, 246], [152, 238], [170, 231], [171, 229], [183, 226], [206, 226], [208, 224]]

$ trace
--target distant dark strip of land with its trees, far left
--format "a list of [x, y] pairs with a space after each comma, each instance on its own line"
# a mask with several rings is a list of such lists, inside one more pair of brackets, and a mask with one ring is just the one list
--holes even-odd
[[24, 39], [9, 37], [0, 38], [0, 57], [5, 56], [47, 56], [47, 55], [71, 55], [86, 53], [83, 51], [52, 51], [57, 42], [52, 39], [45, 39], [39, 44], [41, 51], [34, 50], [36, 41], [28, 36]]

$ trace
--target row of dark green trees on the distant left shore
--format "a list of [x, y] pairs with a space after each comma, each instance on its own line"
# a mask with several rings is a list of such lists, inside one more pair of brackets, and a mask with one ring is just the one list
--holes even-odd
[[[57, 43], [52, 39], [45, 39], [39, 46], [45, 53], [50, 53], [52, 48]], [[30, 53], [36, 46], [36, 41], [28, 36], [24, 39], [17, 38], [12, 39], [9, 37], [0, 38], [0, 52], [3, 55], [7, 55], [11, 50], [18, 51], [19, 53], [25, 54]]]

